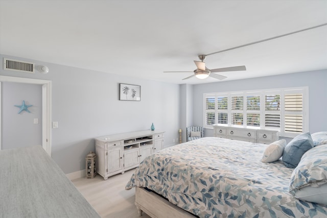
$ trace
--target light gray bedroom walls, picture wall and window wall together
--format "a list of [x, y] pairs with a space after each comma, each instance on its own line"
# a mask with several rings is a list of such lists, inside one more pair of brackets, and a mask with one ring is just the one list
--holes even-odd
[[[49, 67], [48, 74], [0, 68], [0, 75], [52, 81], [52, 120], [59, 124], [58, 129], [52, 129], [52, 158], [66, 174], [85, 168], [86, 154], [95, 151], [94, 137], [150, 129], [154, 123], [156, 129], [166, 131], [165, 145], [174, 144], [180, 128], [184, 136], [184, 127], [203, 125], [202, 99], [206, 92], [309, 86], [309, 130], [327, 130], [327, 69], [176, 85], [4, 55], [0, 55], [1, 65], [4, 57]], [[119, 83], [141, 85], [141, 102], [119, 101]], [[213, 136], [212, 130], [206, 129], [205, 136]]]

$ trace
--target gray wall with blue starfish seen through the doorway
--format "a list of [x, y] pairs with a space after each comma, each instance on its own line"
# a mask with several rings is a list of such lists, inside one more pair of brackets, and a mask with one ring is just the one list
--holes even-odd
[[[4, 82], [2, 93], [2, 149], [42, 145], [42, 86]], [[18, 114], [20, 108], [14, 105], [22, 105], [23, 100], [33, 105], [28, 107], [31, 113]], [[38, 118], [38, 124], [34, 124], [34, 118]]]

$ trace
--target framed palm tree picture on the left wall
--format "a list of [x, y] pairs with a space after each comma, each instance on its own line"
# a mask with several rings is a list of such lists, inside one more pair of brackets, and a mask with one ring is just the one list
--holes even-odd
[[141, 101], [141, 86], [120, 83], [119, 84], [120, 101]]

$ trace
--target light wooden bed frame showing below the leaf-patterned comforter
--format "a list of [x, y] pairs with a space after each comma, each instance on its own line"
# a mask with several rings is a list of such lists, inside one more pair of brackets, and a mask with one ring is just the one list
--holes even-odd
[[152, 218], [196, 217], [143, 187], [135, 187], [135, 205], [139, 216], [144, 211]]

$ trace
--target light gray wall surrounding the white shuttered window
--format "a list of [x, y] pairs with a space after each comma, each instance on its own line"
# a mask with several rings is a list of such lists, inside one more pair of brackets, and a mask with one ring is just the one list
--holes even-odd
[[[193, 85], [193, 125], [203, 126], [203, 93], [308, 86], [309, 131], [311, 133], [327, 131], [326, 82], [327, 69], [324, 69], [246, 80]], [[213, 136], [213, 131], [206, 129], [205, 136]]]

